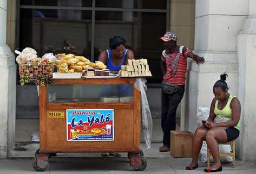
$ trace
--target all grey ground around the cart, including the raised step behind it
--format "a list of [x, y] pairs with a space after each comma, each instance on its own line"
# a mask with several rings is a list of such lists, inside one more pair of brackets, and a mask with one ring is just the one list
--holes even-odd
[[[31, 145], [31, 144], [30, 144]], [[152, 148], [146, 151], [146, 145], [141, 144], [147, 159], [147, 168], [145, 171], [134, 171], [129, 166], [127, 153], [121, 153], [121, 157], [101, 157], [101, 153], [57, 153], [57, 157], [52, 157], [49, 160], [47, 171], [40, 173], [204, 173], [204, 168], [207, 168], [207, 163], [199, 162], [199, 168], [193, 171], [185, 170], [187, 164], [191, 163], [191, 158], [173, 158], [169, 152], [159, 152], [160, 143], [152, 143]], [[28, 145], [23, 146], [28, 148]], [[30, 151], [13, 151], [12, 159], [0, 160], [0, 174], [29, 174], [38, 173], [32, 168], [32, 157], [38, 144], [29, 147]], [[34, 150], [31, 150], [34, 149]], [[228, 174], [255, 174], [256, 162], [242, 162], [236, 160], [236, 165], [233, 168], [231, 164], [223, 164], [223, 171], [219, 173]]]

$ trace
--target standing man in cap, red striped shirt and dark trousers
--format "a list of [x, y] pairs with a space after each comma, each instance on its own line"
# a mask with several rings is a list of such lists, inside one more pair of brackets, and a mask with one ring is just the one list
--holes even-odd
[[170, 150], [170, 130], [176, 129], [176, 110], [185, 91], [187, 57], [192, 58], [197, 64], [204, 63], [205, 59], [194, 55], [186, 46], [178, 46], [178, 37], [173, 32], [167, 31], [160, 39], [165, 50], [161, 55], [161, 70], [164, 75], [161, 113], [163, 146], [159, 151], [167, 152]]

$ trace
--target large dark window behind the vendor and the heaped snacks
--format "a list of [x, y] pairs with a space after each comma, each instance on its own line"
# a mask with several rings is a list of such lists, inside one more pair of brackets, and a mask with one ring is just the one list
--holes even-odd
[[31, 46], [38, 56], [69, 52], [97, 60], [110, 36], [122, 36], [136, 58], [147, 58], [161, 83], [159, 40], [169, 26], [168, 1], [20, 0], [17, 48]]

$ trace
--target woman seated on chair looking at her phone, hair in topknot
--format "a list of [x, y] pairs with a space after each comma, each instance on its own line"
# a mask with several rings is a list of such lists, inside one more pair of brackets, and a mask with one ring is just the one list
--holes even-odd
[[217, 172], [222, 170], [219, 159], [218, 143], [226, 143], [238, 138], [240, 129], [241, 106], [237, 97], [228, 93], [226, 74], [220, 76], [220, 80], [213, 86], [213, 98], [209, 118], [202, 121], [203, 126], [196, 129], [193, 136], [193, 159], [187, 170], [198, 168], [198, 157], [205, 140], [213, 155], [214, 164], [205, 172]]

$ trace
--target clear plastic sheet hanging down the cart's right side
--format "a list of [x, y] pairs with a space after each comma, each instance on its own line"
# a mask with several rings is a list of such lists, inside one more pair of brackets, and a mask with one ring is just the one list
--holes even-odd
[[152, 140], [152, 117], [148, 105], [148, 98], [146, 95], [146, 79], [145, 78], [137, 78], [135, 82], [135, 86], [139, 88], [141, 92], [141, 115], [142, 115], [142, 129], [143, 129], [143, 137], [145, 139], [147, 150], [150, 149], [151, 140]]

